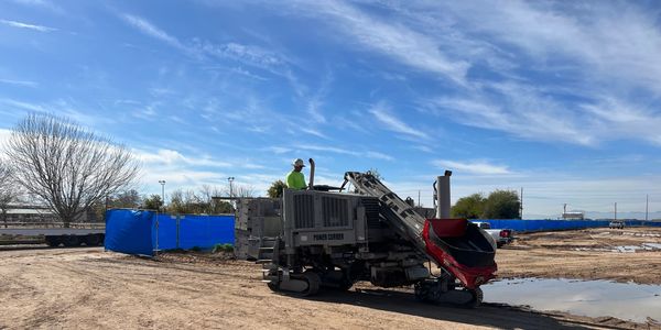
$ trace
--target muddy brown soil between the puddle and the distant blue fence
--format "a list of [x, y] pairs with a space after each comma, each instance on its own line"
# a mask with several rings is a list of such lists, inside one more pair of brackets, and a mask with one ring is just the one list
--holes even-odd
[[643, 243], [661, 244], [661, 228], [520, 234], [513, 244], [498, 250], [498, 275], [661, 284], [661, 250], [615, 252], [617, 246]]

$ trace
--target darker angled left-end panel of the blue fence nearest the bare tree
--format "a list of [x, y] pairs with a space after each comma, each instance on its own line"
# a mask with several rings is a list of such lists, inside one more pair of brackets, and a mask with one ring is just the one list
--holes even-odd
[[153, 255], [154, 213], [138, 210], [106, 211], [106, 250], [128, 254]]

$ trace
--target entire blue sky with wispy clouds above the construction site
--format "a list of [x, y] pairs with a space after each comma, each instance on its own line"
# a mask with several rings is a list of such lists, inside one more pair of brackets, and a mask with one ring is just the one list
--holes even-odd
[[[658, 1], [0, 1], [0, 138], [71, 117], [159, 193], [378, 168], [431, 205], [661, 210]], [[307, 173], [306, 173], [307, 174]]]

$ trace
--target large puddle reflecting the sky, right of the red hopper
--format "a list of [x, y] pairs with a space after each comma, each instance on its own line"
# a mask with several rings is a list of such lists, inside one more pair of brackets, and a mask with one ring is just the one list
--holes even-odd
[[502, 279], [483, 285], [486, 302], [530, 306], [587, 317], [661, 321], [661, 285], [546, 278]]

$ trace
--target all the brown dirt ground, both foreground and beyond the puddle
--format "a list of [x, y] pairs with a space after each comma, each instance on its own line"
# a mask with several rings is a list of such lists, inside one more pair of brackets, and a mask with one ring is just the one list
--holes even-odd
[[[603, 243], [594, 243], [594, 246], [619, 244], [618, 241], [610, 241], [610, 237], [636, 240], [639, 231], [626, 229], [624, 232], [629, 231], [632, 232], [630, 237], [603, 234]], [[586, 232], [600, 235], [606, 231], [520, 235], [517, 243], [498, 251], [499, 274], [512, 277], [635, 279], [640, 283], [661, 280], [658, 267], [661, 252], [572, 250], [572, 245], [593, 244], [576, 239], [576, 235], [583, 238]], [[661, 237], [661, 231], [654, 232]], [[660, 241], [659, 237], [641, 239], [644, 242]], [[599, 255], [590, 256], [595, 253]], [[633, 261], [629, 260], [631, 257]], [[631, 267], [631, 275], [627, 275], [628, 268], [621, 268], [618, 264], [625, 258], [628, 267]], [[602, 262], [597, 264], [593, 260]], [[651, 268], [657, 275], [633, 272], [635, 263], [639, 266], [644, 264], [648, 270], [650, 264], [655, 265]], [[524, 307], [494, 304], [483, 305], [478, 309], [431, 306], [415, 301], [410, 290], [381, 290], [369, 284], [360, 284], [348, 293], [327, 290], [314, 298], [295, 298], [269, 290], [260, 282], [259, 270], [259, 265], [250, 262], [201, 253], [173, 253], [150, 260], [104, 252], [102, 248], [4, 249], [0, 250], [0, 329], [658, 327], [613, 318], [537, 312]], [[629, 276], [628, 279], [626, 276]]]

